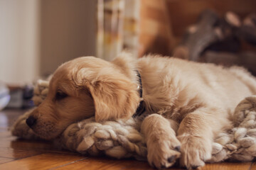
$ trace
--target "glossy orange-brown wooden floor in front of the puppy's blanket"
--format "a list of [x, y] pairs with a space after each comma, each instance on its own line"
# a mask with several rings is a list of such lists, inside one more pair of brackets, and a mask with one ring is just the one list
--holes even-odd
[[[18, 140], [8, 128], [24, 111], [0, 112], [0, 169], [151, 169], [146, 162], [86, 157], [58, 150], [50, 142]], [[177, 168], [171, 168], [177, 169]], [[206, 164], [201, 169], [256, 170], [255, 162]]]

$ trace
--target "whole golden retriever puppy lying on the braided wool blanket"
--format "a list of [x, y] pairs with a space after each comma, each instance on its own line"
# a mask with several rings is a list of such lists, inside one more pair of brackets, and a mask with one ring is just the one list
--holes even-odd
[[213, 138], [230, 126], [235, 106], [252, 94], [255, 78], [239, 67], [157, 56], [137, 60], [127, 53], [112, 62], [80, 57], [55, 71], [46, 100], [26, 123], [52, 139], [79, 120], [131, 118], [144, 106], [148, 116], [141, 130], [149, 164], [160, 169], [179, 158], [191, 169], [210, 159]]

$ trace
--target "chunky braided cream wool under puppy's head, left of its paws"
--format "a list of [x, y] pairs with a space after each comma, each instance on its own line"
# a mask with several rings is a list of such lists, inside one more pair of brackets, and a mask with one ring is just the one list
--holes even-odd
[[[48, 86], [49, 81], [37, 81], [33, 96], [36, 106], [46, 98]], [[13, 135], [27, 140], [39, 139], [26, 125], [26, 119], [32, 111], [33, 109], [16, 120], [11, 128]], [[144, 137], [139, 132], [139, 125], [139, 120], [134, 120], [134, 118], [104, 123], [96, 123], [95, 118], [88, 118], [69, 125], [63, 134], [53, 142], [81, 154], [94, 156], [105, 154], [117, 159], [135, 157], [144, 160], [147, 152]]]

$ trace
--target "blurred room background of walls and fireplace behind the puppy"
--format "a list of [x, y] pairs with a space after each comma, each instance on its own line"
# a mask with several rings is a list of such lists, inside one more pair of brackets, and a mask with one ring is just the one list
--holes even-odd
[[255, 0], [0, 0], [0, 98], [33, 95], [26, 85], [75, 57], [124, 49], [255, 74], [255, 12]]

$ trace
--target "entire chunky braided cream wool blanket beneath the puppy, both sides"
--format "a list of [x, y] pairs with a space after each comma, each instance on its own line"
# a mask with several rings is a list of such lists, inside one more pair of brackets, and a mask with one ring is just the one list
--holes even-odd
[[[48, 81], [39, 80], [33, 101], [39, 105], [48, 94]], [[33, 110], [31, 110], [33, 111]], [[38, 139], [26, 125], [28, 111], [16, 120], [11, 132], [24, 139]], [[206, 162], [252, 161], [256, 157], [256, 96], [241, 101], [233, 116], [233, 128], [220, 132], [213, 142], [211, 159]], [[117, 120], [96, 123], [88, 118], [73, 123], [54, 142], [81, 154], [105, 154], [115, 158], [135, 157], [146, 160], [146, 144], [139, 132], [140, 120]]]

